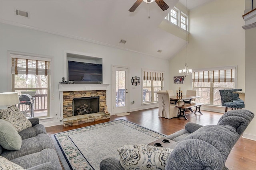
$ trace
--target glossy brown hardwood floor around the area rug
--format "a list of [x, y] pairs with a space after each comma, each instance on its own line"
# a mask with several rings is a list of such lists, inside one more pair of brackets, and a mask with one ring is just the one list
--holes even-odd
[[[185, 120], [182, 117], [165, 119], [158, 117], [158, 108], [153, 108], [133, 111], [127, 116], [112, 115], [110, 116], [110, 119], [76, 125], [73, 127], [63, 127], [62, 125], [47, 127], [46, 131], [48, 135], [51, 135], [54, 133], [104, 123], [107, 121], [124, 119], [165, 135], [170, 135], [176, 131], [179, 131], [180, 129], [184, 129], [184, 126], [189, 121], [198, 123], [200, 125], [214, 125], [218, 123], [219, 118], [222, 116], [222, 113], [210, 111], [202, 111], [202, 113], [203, 115], [193, 113], [187, 115], [186, 117], [188, 120]], [[240, 137], [228, 156], [226, 167], [229, 170], [256, 170], [256, 141]]]

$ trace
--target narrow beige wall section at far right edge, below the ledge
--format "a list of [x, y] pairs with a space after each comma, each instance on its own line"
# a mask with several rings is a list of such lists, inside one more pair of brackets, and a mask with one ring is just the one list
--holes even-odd
[[[245, 109], [256, 114], [255, 96], [256, 96], [256, 24], [254, 28], [246, 29], [246, 57], [245, 57]], [[256, 141], [256, 117], [252, 120], [244, 137]]]

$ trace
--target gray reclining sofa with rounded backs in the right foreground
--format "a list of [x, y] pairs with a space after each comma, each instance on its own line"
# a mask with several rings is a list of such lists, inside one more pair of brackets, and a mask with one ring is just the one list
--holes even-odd
[[[217, 125], [202, 126], [188, 122], [185, 129], [166, 137], [175, 142], [170, 147], [173, 149], [170, 154], [165, 155], [165, 170], [228, 169], [225, 166], [226, 159], [253, 117], [254, 113], [251, 111], [238, 109], [224, 113]], [[131, 158], [129, 152], [126, 153], [126, 165], [130, 160], [132, 161], [129, 163], [134, 164], [136, 159], [142, 157], [140, 154], [144, 154], [140, 153], [137, 157]], [[148, 153], [152, 154], [152, 152]], [[120, 162], [125, 161], [106, 158], [100, 163], [100, 169], [122, 170], [124, 165], [122, 166]], [[151, 162], [148, 166], [152, 166]]]

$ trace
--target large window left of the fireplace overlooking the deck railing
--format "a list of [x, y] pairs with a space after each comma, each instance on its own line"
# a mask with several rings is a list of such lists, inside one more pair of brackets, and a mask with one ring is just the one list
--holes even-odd
[[34, 117], [50, 114], [50, 62], [49, 58], [10, 54], [12, 60], [12, 91], [30, 95], [30, 105], [18, 104], [20, 111]]

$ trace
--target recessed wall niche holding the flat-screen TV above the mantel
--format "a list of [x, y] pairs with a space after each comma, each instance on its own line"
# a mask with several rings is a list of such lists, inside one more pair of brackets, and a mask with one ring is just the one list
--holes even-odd
[[102, 58], [67, 53], [67, 79], [74, 83], [102, 84]]

